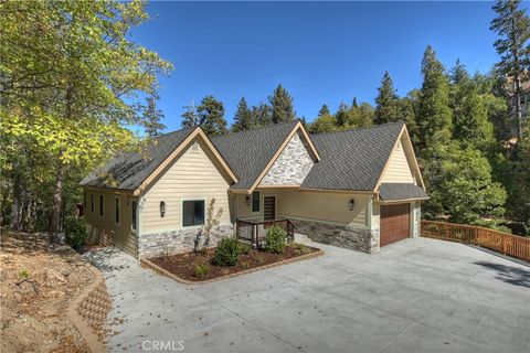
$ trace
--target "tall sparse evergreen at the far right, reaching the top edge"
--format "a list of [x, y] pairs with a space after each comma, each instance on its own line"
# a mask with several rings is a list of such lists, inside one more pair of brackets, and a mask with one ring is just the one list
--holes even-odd
[[521, 82], [530, 69], [530, 18], [526, 9], [520, 7], [520, 0], [498, 0], [492, 7], [498, 17], [491, 21], [490, 30], [500, 36], [495, 41], [495, 49], [500, 56], [497, 68], [508, 76], [513, 85], [510, 89], [513, 97], [513, 116], [516, 133], [521, 137]]

